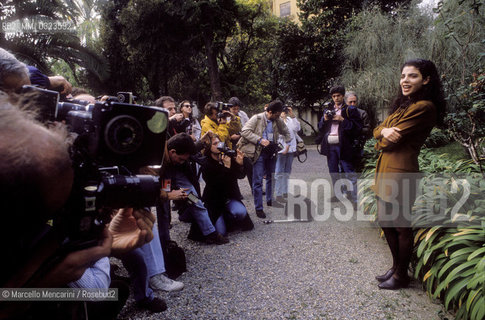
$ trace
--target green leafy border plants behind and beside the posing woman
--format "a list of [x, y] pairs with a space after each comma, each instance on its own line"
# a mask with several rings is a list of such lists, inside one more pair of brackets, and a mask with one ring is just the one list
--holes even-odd
[[[375, 172], [375, 140], [369, 141], [364, 153], [364, 178]], [[446, 209], [433, 227], [415, 228], [413, 269], [429, 297], [439, 298], [445, 307], [456, 312], [457, 319], [485, 318], [485, 182], [478, 166], [469, 160], [450, 160], [447, 154], [423, 149], [420, 169], [426, 173], [423, 191], [416, 199], [413, 213], [417, 222], [436, 219], [443, 197], [457, 203], [465, 191], [460, 174], [466, 174], [467, 201], [455, 213]], [[443, 174], [447, 173], [448, 177]], [[360, 204], [367, 214], [376, 214], [376, 201], [370, 190], [372, 182], [361, 180]], [[456, 192], [452, 192], [456, 191]], [[441, 195], [441, 197], [439, 196]], [[458, 208], [458, 207], [457, 207]], [[457, 218], [466, 222], [457, 223]], [[472, 222], [469, 222], [469, 221]], [[448, 226], [447, 225], [451, 225]]]

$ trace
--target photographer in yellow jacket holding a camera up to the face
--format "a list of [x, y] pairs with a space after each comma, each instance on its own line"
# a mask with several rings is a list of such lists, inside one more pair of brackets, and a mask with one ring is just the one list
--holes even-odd
[[[219, 136], [229, 148], [232, 148], [231, 135], [241, 131], [241, 119], [229, 110], [219, 110], [216, 103], [208, 102], [204, 107], [205, 117], [202, 125], [203, 136], [206, 132], [212, 131]], [[227, 121], [227, 118], [231, 118]]]

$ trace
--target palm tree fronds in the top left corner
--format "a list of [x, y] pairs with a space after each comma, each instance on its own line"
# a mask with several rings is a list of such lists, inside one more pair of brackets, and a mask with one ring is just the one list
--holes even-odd
[[0, 23], [34, 23], [50, 29], [20, 28], [16, 32], [0, 31], [0, 46], [19, 59], [50, 74], [49, 58], [64, 60], [73, 70], [81, 66], [100, 81], [107, 78], [106, 63], [96, 52], [84, 47], [76, 35], [76, 14], [59, 0], [5, 1], [0, 6]]

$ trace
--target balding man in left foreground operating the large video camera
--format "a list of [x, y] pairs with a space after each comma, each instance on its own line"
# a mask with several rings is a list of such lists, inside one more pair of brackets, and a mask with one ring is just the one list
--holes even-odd
[[[74, 179], [67, 134], [61, 126], [46, 129], [5, 99], [0, 100], [0, 193], [6, 206], [2, 223], [7, 227], [0, 233], [0, 243], [8, 263], [0, 267], [2, 287], [65, 287], [82, 277], [86, 280], [86, 271], [98, 269], [101, 258], [132, 250], [153, 238], [151, 213], [120, 210], [109, 229], [105, 227], [99, 235], [97, 245], [60, 251], [64, 230], [56, 221], [69, 214], [63, 207]], [[53, 226], [47, 223], [52, 219]], [[98, 279], [99, 285], [109, 283], [105, 277], [106, 272]], [[0, 318], [41, 316], [29, 306], [4, 303]]]

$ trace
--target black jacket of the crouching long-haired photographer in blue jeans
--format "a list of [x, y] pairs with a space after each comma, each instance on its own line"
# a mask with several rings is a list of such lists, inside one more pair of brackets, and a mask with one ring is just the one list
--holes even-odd
[[202, 201], [213, 221], [225, 210], [227, 200], [241, 200], [242, 195], [237, 179], [245, 177], [244, 167], [231, 160], [231, 168], [226, 168], [218, 161], [207, 157], [201, 167], [202, 178], [206, 183]]

